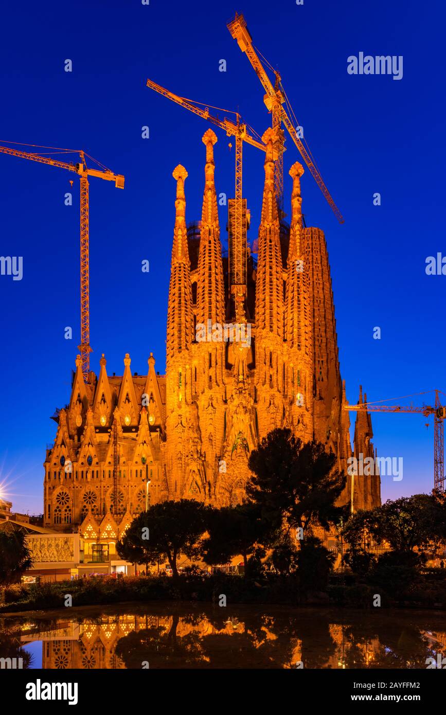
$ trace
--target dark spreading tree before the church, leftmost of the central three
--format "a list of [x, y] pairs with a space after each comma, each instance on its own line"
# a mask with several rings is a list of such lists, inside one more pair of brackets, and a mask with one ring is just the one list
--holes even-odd
[[131, 563], [157, 563], [167, 558], [172, 575], [178, 576], [177, 558], [199, 556], [199, 537], [206, 531], [209, 507], [193, 499], [154, 504], [137, 516], [117, 553]]

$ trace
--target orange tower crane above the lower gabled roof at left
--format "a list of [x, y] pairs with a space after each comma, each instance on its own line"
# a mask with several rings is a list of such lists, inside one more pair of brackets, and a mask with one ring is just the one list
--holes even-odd
[[[39, 147], [36, 144], [18, 144], [18, 142], [6, 142], [21, 147], [33, 147], [34, 149], [46, 149], [46, 152], [22, 152], [13, 147], [0, 147], [1, 154], [9, 154], [11, 157], [29, 159], [31, 162], [49, 164], [51, 167], [66, 169], [79, 176], [81, 182], [81, 344], [79, 350], [82, 360], [82, 374], [84, 381], [88, 379], [90, 370], [90, 307], [89, 307], [89, 180], [88, 177], [98, 177], [106, 181], [113, 181], [117, 189], [124, 189], [124, 177], [122, 174], [114, 174], [103, 164], [96, 162], [96, 159], [89, 157], [89, 154], [77, 149], [60, 149], [58, 147]], [[61, 162], [59, 159], [45, 157], [43, 154], [79, 154], [79, 162]], [[101, 169], [91, 169], [86, 166], [85, 157], [101, 167]]]

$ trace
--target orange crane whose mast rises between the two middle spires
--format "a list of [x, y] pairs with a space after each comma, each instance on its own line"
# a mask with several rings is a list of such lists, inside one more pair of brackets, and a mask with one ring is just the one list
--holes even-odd
[[[206, 105], [202, 104], [204, 109], [197, 107], [201, 102], [193, 102], [191, 99], [179, 97], [177, 94], [169, 92], [169, 89], [165, 89], [165, 87], [161, 87], [160, 84], [153, 82], [152, 79], [147, 79], [147, 87], [154, 89], [155, 92], [162, 94], [162, 96], [167, 97], [167, 99], [172, 99], [172, 102], [176, 102], [180, 107], [189, 109], [190, 112], [197, 114], [198, 117], [207, 119], [208, 122], [212, 122], [216, 127], [224, 129], [228, 137], [235, 137], [234, 252], [232, 260], [234, 260], [235, 257], [236, 262], [234, 266], [229, 265], [229, 275], [232, 276], [231, 291], [234, 294], [234, 300], [236, 305], [240, 305], [240, 302], [243, 300], [242, 292], [246, 286], [246, 250], [243, 248], [244, 227], [242, 210], [243, 142], [247, 142], [247, 144], [251, 144], [252, 147], [257, 147], [257, 149], [262, 149], [263, 152], [266, 151], [266, 145], [254, 130], [251, 129], [252, 133], [257, 135], [257, 139], [249, 134], [247, 124], [242, 123], [240, 115], [237, 112], [232, 112], [232, 114], [235, 114], [236, 122], [232, 122], [230, 119], [227, 119], [227, 117], [219, 119], [209, 113], [209, 107]], [[217, 107], [214, 109], [217, 109]], [[222, 111], [227, 112], [228, 110]], [[229, 257], [229, 262], [230, 260], [231, 256]]]

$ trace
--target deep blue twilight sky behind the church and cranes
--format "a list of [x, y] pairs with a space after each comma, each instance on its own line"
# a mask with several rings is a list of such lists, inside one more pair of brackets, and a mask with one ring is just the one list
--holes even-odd
[[[109, 374], [124, 353], [145, 373], [164, 371], [174, 179], [189, 172], [187, 220], [201, 214], [207, 123], [145, 87], [147, 77], [184, 97], [239, 109], [260, 134], [263, 90], [227, 31], [242, 11], [254, 44], [282, 73], [304, 136], [345, 216], [340, 226], [317, 185], [302, 179], [307, 225], [329, 247], [347, 398], [445, 389], [444, 276], [425, 275], [445, 243], [444, 25], [440, 1], [26, 0], [3, 11], [2, 141], [85, 149], [126, 177], [124, 191], [90, 182], [91, 369]], [[402, 55], [403, 78], [351, 76], [347, 57]], [[71, 74], [65, 59], [73, 62]], [[226, 59], [227, 71], [219, 71]], [[142, 139], [148, 125], [150, 139]], [[234, 156], [217, 130], [217, 190], [232, 196]], [[287, 141], [288, 169], [299, 159]], [[244, 150], [244, 195], [255, 237], [263, 155]], [[0, 277], [1, 479], [14, 508], [41, 511], [42, 461], [54, 409], [69, 400], [79, 343], [79, 181], [67, 172], [0, 155], [1, 255], [23, 256], [24, 277]], [[64, 194], [74, 178], [74, 204]], [[380, 192], [382, 205], [372, 196]], [[222, 234], [226, 215], [220, 220]], [[149, 274], [141, 261], [150, 262]], [[64, 339], [64, 327], [74, 339]], [[381, 340], [373, 340], [380, 326]], [[427, 400], [432, 401], [432, 395]], [[446, 398], [445, 398], [446, 399]], [[396, 400], [398, 401], [398, 400]], [[422, 398], [418, 400], [420, 403]], [[372, 415], [378, 453], [404, 459], [383, 498], [432, 488], [433, 427], [416, 415]]]

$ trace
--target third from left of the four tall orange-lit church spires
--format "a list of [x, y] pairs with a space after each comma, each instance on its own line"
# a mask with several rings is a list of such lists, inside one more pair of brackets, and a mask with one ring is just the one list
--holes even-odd
[[282, 255], [279, 240], [279, 215], [274, 194], [274, 132], [269, 127], [262, 137], [267, 144], [264, 172], [262, 220], [259, 227], [259, 253], [256, 279], [257, 334], [270, 332], [283, 337], [284, 305]]

